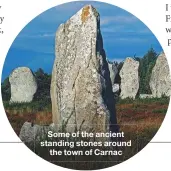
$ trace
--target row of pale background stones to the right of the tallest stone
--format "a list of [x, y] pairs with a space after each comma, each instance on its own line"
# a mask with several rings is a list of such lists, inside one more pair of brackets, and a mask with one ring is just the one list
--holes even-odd
[[[121, 89], [120, 97], [124, 98], [135, 98], [139, 90], [139, 62], [133, 58], [126, 58], [123, 67], [119, 73], [121, 77], [121, 85], [115, 84], [115, 76], [118, 73], [115, 64], [109, 64], [110, 77], [113, 84], [113, 92]], [[140, 94], [140, 98], [152, 98], [162, 97], [171, 95], [171, 79], [169, 65], [164, 53], [161, 53], [156, 64], [152, 70], [149, 86], [152, 94]]]

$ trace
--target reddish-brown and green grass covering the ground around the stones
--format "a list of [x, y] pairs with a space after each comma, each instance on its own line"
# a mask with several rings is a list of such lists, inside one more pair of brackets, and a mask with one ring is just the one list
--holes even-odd
[[[104, 168], [118, 164], [121, 161], [125, 161], [131, 156], [138, 153], [144, 148], [149, 141], [154, 137], [158, 129], [160, 128], [162, 121], [165, 117], [169, 104], [169, 98], [153, 98], [153, 99], [119, 99], [116, 103], [117, 120], [120, 127], [120, 131], [125, 133], [125, 139], [132, 140], [132, 147], [123, 149], [124, 155], [118, 159], [118, 162], [108, 163], [92, 163], [88, 164], [89, 169]], [[8, 104], [4, 102], [5, 111], [9, 122], [11, 123], [14, 131], [19, 135], [20, 129], [24, 122], [29, 121], [40, 125], [49, 125], [52, 123], [51, 104], [43, 102], [32, 102], [23, 104]], [[45, 152], [37, 147], [36, 154], [50, 160]], [[46, 155], [45, 155], [46, 154]], [[102, 158], [104, 160], [104, 158]], [[72, 168], [71, 163], [59, 163], [55, 164]], [[81, 166], [85, 163], [75, 163], [73, 168]]]

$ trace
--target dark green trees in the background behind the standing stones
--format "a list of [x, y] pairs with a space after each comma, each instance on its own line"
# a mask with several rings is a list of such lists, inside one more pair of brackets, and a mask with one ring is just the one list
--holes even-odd
[[[158, 57], [157, 52], [150, 48], [147, 53], [142, 57], [136, 57], [134, 59], [139, 61], [139, 92], [138, 94], [150, 94], [149, 81], [151, 78], [152, 69], [156, 63]], [[119, 72], [123, 66], [124, 62], [114, 62], [118, 68], [118, 74], [115, 78], [115, 83], [121, 84], [121, 78]], [[34, 95], [33, 101], [47, 101], [50, 102], [50, 84], [51, 84], [51, 75], [45, 73], [43, 69], [39, 68], [34, 72], [35, 78], [37, 80], [38, 89]], [[11, 89], [9, 83], [9, 77], [6, 78], [3, 83], [1, 83], [1, 92], [3, 101], [9, 101], [11, 96]]]

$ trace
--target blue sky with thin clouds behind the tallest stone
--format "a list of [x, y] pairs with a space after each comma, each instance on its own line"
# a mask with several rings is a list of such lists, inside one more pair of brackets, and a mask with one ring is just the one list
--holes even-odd
[[141, 57], [150, 47], [162, 51], [148, 27], [127, 11], [100, 2], [72, 2], [49, 9], [23, 28], [9, 49], [2, 80], [19, 66], [30, 67], [33, 71], [43, 68], [51, 73], [57, 28], [87, 4], [100, 13], [104, 49], [109, 60], [122, 61], [135, 54]]

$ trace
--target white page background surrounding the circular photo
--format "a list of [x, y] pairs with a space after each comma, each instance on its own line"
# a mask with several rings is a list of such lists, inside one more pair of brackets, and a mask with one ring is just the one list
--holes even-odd
[[[102, 0], [100, 0], [102, 1]], [[5, 20], [2, 25], [4, 34], [0, 35], [0, 71], [2, 71], [6, 54], [19, 32], [29, 21], [43, 11], [70, 2], [67, 0], [0, 0], [0, 16]], [[171, 67], [171, 47], [167, 46], [165, 27], [171, 23], [165, 22], [165, 4], [169, 0], [106, 0], [102, 1], [121, 7], [138, 17], [146, 24], [162, 45]], [[169, 14], [169, 12], [167, 12]], [[171, 11], [170, 11], [171, 15]], [[55, 17], [55, 16], [54, 16]], [[170, 105], [165, 120], [152, 142], [171, 142], [171, 114]], [[0, 142], [19, 142], [20, 139], [13, 131], [0, 99]], [[31, 152], [22, 143], [0, 143], [0, 170], [67, 170], [53, 165]], [[108, 168], [115, 171], [170, 171], [171, 170], [171, 143], [149, 143], [141, 152], [129, 160]]]

